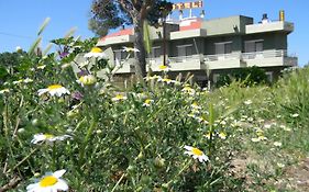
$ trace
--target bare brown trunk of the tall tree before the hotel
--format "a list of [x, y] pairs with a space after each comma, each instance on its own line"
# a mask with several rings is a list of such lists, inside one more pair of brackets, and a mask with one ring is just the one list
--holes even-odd
[[134, 21], [134, 47], [140, 52], [135, 53], [135, 75], [140, 82], [143, 82], [143, 78], [146, 77], [146, 50], [144, 45], [144, 35], [143, 35], [143, 20], [136, 19]]

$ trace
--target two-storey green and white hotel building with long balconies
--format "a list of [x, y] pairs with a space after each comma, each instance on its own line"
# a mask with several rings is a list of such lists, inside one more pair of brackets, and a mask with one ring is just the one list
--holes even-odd
[[[189, 72], [195, 75], [196, 82], [205, 86], [208, 80], [216, 82], [220, 74], [257, 66], [265, 69], [272, 80], [284, 68], [297, 66], [297, 57], [288, 55], [288, 35], [293, 31], [294, 23], [286, 22], [283, 12], [276, 21], [268, 20], [264, 14], [257, 23], [254, 23], [253, 18], [243, 15], [167, 21], [165, 43], [162, 27], [150, 30], [153, 47], [146, 58], [147, 68], [153, 72], [159, 71], [165, 45], [170, 76], [186, 76]], [[123, 46], [132, 47], [133, 42], [132, 29], [109, 34], [98, 42], [98, 46], [112, 49], [111, 63], [122, 65], [115, 72], [120, 77], [134, 74], [134, 59], [128, 59], [128, 53], [122, 52]], [[207, 71], [210, 71], [209, 76]]]

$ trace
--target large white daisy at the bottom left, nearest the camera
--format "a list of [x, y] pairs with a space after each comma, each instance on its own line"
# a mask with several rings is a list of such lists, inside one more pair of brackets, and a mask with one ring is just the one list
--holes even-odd
[[37, 183], [29, 184], [27, 192], [56, 192], [67, 191], [68, 185], [65, 180], [60, 179], [66, 170], [58, 170], [52, 174], [43, 177]]

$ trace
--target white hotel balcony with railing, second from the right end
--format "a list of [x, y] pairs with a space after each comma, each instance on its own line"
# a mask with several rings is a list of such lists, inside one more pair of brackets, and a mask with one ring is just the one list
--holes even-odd
[[245, 67], [241, 60], [241, 53], [206, 55], [205, 64], [211, 70]]

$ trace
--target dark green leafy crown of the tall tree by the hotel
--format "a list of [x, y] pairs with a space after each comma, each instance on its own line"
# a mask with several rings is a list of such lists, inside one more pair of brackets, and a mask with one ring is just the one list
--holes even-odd
[[[89, 29], [96, 34], [103, 36], [110, 29], [115, 29], [122, 25], [133, 24], [134, 20], [140, 20], [137, 12], [142, 11], [143, 4], [148, 3], [144, 0], [141, 1], [123, 1], [125, 8], [122, 7], [120, 1], [111, 0], [93, 0], [91, 5], [91, 18], [88, 22]], [[163, 15], [167, 15], [172, 9], [173, 3], [166, 0], [150, 1], [145, 18], [151, 25], [155, 25]], [[135, 12], [134, 12], [135, 11]], [[136, 15], [136, 16], [133, 16]], [[144, 18], [144, 16], [143, 16]], [[143, 22], [143, 21], [142, 21]]]

